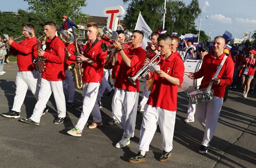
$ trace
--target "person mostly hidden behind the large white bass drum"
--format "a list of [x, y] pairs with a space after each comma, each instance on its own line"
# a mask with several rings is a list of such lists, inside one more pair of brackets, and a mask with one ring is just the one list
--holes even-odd
[[[199, 48], [199, 57], [200, 60], [203, 60], [203, 57], [209, 53], [208, 47], [200, 47]], [[195, 121], [195, 104], [189, 103], [188, 105], [188, 117], [184, 120], [184, 122], [194, 122]]]

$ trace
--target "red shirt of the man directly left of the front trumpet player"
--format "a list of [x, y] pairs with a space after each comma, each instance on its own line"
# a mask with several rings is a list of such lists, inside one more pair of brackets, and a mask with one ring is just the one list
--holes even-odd
[[127, 67], [124, 61], [121, 59], [121, 56], [117, 57], [117, 65], [120, 65], [118, 71], [115, 87], [131, 92], [139, 92], [139, 80], [136, 80], [136, 84], [132, 84], [128, 77], [133, 77], [143, 66], [144, 60], [146, 58], [146, 51], [142, 47], [137, 48], [126, 48], [124, 53], [131, 60], [131, 67]]

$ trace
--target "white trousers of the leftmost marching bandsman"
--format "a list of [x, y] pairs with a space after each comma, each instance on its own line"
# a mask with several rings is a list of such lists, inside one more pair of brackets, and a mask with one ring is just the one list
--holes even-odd
[[36, 100], [40, 89], [40, 74], [38, 71], [19, 71], [16, 75], [16, 91], [13, 101], [13, 111], [20, 113], [20, 108], [26, 97], [27, 88], [30, 88]]

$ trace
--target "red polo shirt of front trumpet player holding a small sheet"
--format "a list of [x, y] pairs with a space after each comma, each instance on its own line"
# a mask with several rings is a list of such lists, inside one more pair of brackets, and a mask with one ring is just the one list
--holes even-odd
[[[184, 64], [180, 54], [177, 51], [172, 53], [167, 59], [158, 63], [160, 69], [168, 75], [178, 78], [180, 85], [183, 82]], [[160, 107], [169, 111], [177, 110], [177, 94], [178, 86], [170, 83], [165, 78], [150, 72], [150, 76], [154, 77], [153, 87], [148, 97], [147, 104]]]

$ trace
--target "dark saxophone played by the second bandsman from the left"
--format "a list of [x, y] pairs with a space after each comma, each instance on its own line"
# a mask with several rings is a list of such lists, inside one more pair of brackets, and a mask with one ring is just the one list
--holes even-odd
[[[40, 51], [41, 50], [41, 43], [39, 42], [40, 41], [40, 38], [42, 38], [43, 36], [45, 36], [46, 34], [40, 36], [37, 41], [36, 41], [36, 45], [37, 45], [37, 51]], [[42, 74], [44, 71], [45, 71], [45, 59], [42, 58], [41, 56], [38, 56], [37, 58], [34, 58], [33, 59], [33, 64], [35, 66], [35, 69], [40, 73]]]

